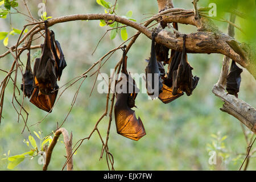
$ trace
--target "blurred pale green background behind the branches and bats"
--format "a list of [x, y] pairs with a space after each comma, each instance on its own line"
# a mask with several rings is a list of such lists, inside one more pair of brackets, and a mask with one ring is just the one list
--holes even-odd
[[[22, 2], [18, 1], [18, 9], [26, 12]], [[28, 1], [32, 15], [40, 18], [38, 4], [42, 1]], [[114, 1], [111, 1], [114, 2]], [[124, 1], [118, 0], [118, 15], [125, 15], [127, 11], [133, 11], [133, 18], [137, 22], [143, 22], [148, 16], [158, 12], [155, 0], [151, 1]], [[192, 9], [191, 1], [174, 0], [175, 7]], [[63, 16], [71, 14], [104, 13], [104, 8], [96, 3], [96, 0], [68, 1], [55, 0], [47, 1], [47, 16]], [[228, 15], [226, 16], [228, 18]], [[26, 24], [26, 16], [11, 14], [11, 26], [22, 30]], [[241, 19], [238, 18], [237, 23]], [[59, 86], [64, 85], [73, 77], [85, 72], [95, 61], [103, 56], [110, 49], [113, 49], [123, 42], [121, 36], [110, 40], [109, 33], [101, 41], [96, 52], [92, 52], [98, 40], [105, 33], [107, 27], [100, 27], [100, 21], [76, 21], [56, 24], [50, 27], [55, 32], [55, 38], [59, 40], [63, 49], [67, 68], [64, 69]], [[226, 32], [227, 23], [216, 22], [221, 31]], [[10, 31], [10, 19], [0, 19], [0, 31]], [[189, 25], [179, 24], [179, 31], [183, 33], [195, 32], [196, 28]], [[127, 28], [128, 37], [137, 32], [133, 28]], [[241, 40], [241, 34], [236, 30], [236, 38]], [[9, 46], [16, 43], [18, 35], [10, 36]], [[32, 45], [43, 43], [43, 39], [35, 40]], [[147, 63], [144, 61], [150, 55], [151, 40], [141, 35], [134, 46], [130, 49], [127, 61], [128, 71], [131, 73], [143, 73]], [[7, 49], [0, 42], [0, 53]], [[31, 55], [36, 50], [31, 50]], [[26, 64], [27, 51], [24, 51], [20, 60]], [[119, 50], [109, 59], [101, 69], [101, 72], [110, 74], [110, 69], [121, 59], [122, 51]], [[213, 85], [218, 81], [221, 72], [222, 55], [217, 54], [188, 54], [189, 63], [192, 65], [193, 75], [200, 77], [199, 84], [192, 96], [184, 95], [170, 104], [163, 104], [160, 100], [148, 100], [147, 94], [138, 94], [136, 105], [137, 117], [141, 117], [147, 135], [138, 142], [127, 139], [116, 133], [114, 118], [109, 135], [109, 151], [114, 156], [114, 168], [117, 170], [237, 170], [242, 164], [246, 153], [245, 137], [242, 133], [240, 122], [229, 114], [220, 111], [223, 102], [211, 92]], [[0, 59], [2, 69], [10, 69], [13, 57], [6, 56]], [[34, 64], [34, 62], [33, 62]], [[96, 70], [96, 69], [94, 69]], [[93, 73], [90, 72], [90, 73]], [[1, 80], [5, 73], [0, 72]], [[88, 74], [90, 75], [90, 74]], [[93, 86], [95, 76], [88, 77], [81, 86], [77, 101], [71, 114], [68, 116], [64, 126], [69, 133], [73, 133], [73, 143], [81, 138], [88, 137], [93, 127], [105, 111], [106, 94], [97, 93], [97, 88], [91, 97], [90, 90]], [[256, 106], [256, 81], [246, 69], [242, 72], [242, 83], [239, 97], [252, 106]], [[18, 84], [21, 83], [21, 75], [18, 75]], [[96, 86], [97, 86], [96, 82]], [[47, 113], [32, 105], [26, 98], [24, 107], [30, 113], [27, 130], [21, 134], [24, 123], [22, 120], [17, 123], [16, 114], [11, 100], [13, 97], [13, 84], [9, 82], [5, 93], [3, 119], [0, 125], [0, 169], [7, 170], [7, 160], [3, 154], [10, 150], [10, 156], [22, 154], [30, 150], [30, 147], [23, 142], [28, 135], [35, 137], [32, 131], [40, 131], [45, 136], [56, 129], [56, 123], [61, 123], [66, 117], [73, 96], [79, 83], [66, 90], [52, 113], [40, 125], [32, 124], [40, 121]], [[65, 88], [65, 87], [64, 87]], [[19, 96], [19, 100], [22, 96]], [[106, 137], [108, 129], [106, 117], [99, 125], [102, 137]], [[250, 131], [246, 130], [250, 135]], [[216, 137], [217, 136], [217, 137]], [[223, 138], [224, 137], [224, 138]], [[222, 139], [222, 140], [221, 140]], [[63, 138], [60, 137], [60, 141]], [[89, 141], [82, 143], [81, 147], [73, 156], [75, 170], [107, 170], [106, 158], [99, 160], [101, 154], [101, 141], [97, 133], [94, 133]], [[210, 165], [209, 151], [214, 150], [222, 155], [224, 160], [220, 167]], [[59, 170], [65, 162], [64, 143], [58, 142], [52, 154], [49, 170]], [[41, 170], [42, 165], [38, 164], [38, 157], [26, 158], [14, 170]], [[256, 168], [255, 158], [251, 158], [248, 169]]]

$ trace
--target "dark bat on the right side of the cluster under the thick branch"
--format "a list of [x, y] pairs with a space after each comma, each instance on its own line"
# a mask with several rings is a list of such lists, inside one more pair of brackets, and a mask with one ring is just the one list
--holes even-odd
[[183, 51], [181, 54], [180, 64], [177, 70], [172, 72], [172, 86], [174, 86], [172, 94], [175, 96], [177, 90], [184, 91], [187, 96], [192, 94], [192, 91], [196, 88], [199, 81], [199, 77], [192, 75], [192, 67], [188, 63], [188, 57], [185, 49], [186, 35], [183, 36]]

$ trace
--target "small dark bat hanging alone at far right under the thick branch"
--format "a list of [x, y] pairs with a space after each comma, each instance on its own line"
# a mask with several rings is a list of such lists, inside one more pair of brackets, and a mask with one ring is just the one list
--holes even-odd
[[238, 97], [238, 92], [241, 84], [241, 73], [243, 70], [239, 68], [235, 61], [232, 60], [229, 75], [226, 78], [226, 91]]

